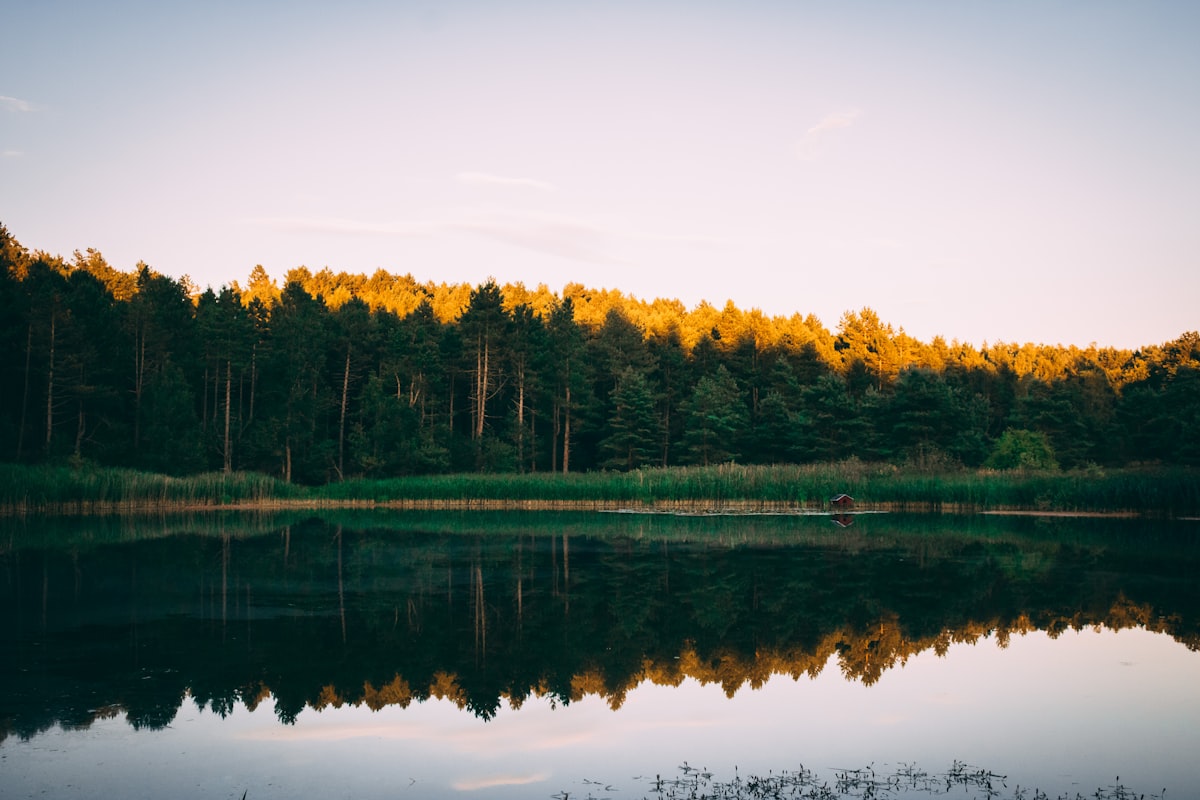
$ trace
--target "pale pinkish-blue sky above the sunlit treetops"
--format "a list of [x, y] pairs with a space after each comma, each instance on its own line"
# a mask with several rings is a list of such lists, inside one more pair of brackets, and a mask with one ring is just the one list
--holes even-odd
[[2, 0], [0, 223], [200, 287], [1200, 327], [1200, 4]]

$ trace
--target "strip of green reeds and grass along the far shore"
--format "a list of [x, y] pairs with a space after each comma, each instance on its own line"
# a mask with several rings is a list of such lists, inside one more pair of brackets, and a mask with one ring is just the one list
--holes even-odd
[[300, 486], [258, 473], [172, 477], [88, 464], [0, 464], [0, 515], [6, 516], [373, 507], [828, 513], [834, 511], [829, 498], [839, 493], [854, 498], [853, 511], [1184, 517], [1200, 513], [1200, 470], [923, 473], [850, 459], [566, 475], [426, 475]]

